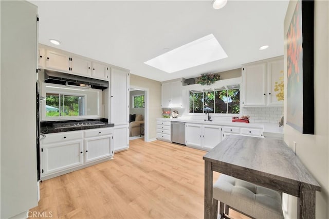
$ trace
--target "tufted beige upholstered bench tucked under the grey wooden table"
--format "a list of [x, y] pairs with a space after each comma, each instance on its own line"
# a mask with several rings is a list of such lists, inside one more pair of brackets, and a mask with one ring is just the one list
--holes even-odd
[[213, 201], [220, 202], [222, 217], [231, 208], [253, 218], [283, 218], [279, 192], [224, 174], [213, 185]]

